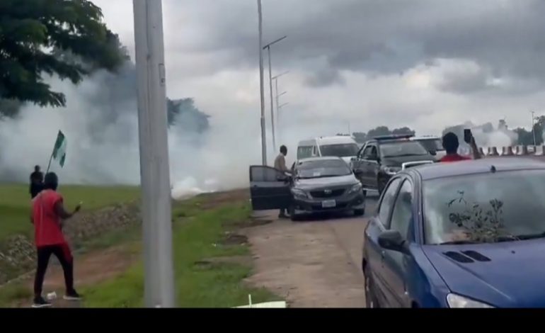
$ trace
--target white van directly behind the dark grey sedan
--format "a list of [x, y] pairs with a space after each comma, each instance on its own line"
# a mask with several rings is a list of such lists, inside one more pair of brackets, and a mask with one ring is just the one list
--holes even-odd
[[297, 159], [335, 156], [350, 163], [350, 159], [357, 155], [358, 150], [360, 148], [356, 140], [349, 136], [317, 137], [316, 139], [299, 142], [299, 145], [297, 145]]

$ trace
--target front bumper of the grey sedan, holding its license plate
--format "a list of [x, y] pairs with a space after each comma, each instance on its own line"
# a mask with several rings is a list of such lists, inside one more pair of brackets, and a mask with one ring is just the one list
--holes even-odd
[[[335, 200], [335, 207], [323, 208], [323, 201]], [[365, 209], [365, 197], [363, 193], [357, 193], [352, 196], [340, 198], [312, 198], [301, 199], [294, 198], [293, 212], [297, 215], [311, 213], [342, 212], [345, 210], [363, 210]]]

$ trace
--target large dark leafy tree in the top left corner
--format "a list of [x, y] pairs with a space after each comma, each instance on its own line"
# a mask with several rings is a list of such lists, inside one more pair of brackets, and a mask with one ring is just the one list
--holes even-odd
[[114, 71], [125, 61], [117, 35], [91, 1], [1, 0], [0, 13], [0, 98], [65, 106], [66, 97], [51, 90], [44, 74], [79, 84], [94, 70]]

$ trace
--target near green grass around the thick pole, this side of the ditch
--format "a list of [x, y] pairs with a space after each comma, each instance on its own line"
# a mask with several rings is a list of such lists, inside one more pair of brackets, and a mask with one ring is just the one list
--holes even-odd
[[[198, 200], [198, 199], [197, 199]], [[234, 307], [245, 305], [248, 294], [254, 302], [278, 300], [268, 290], [244, 286], [241, 281], [251, 274], [251, 267], [212, 261], [226, 256], [249, 254], [247, 245], [222, 245], [226, 230], [234, 223], [248, 220], [246, 203], [233, 203], [210, 210], [196, 208], [197, 201], [174, 207], [173, 252], [178, 307]], [[178, 218], [176, 218], [178, 216]], [[82, 289], [86, 307], [141, 307], [144, 277], [142, 263], [110, 281]]]

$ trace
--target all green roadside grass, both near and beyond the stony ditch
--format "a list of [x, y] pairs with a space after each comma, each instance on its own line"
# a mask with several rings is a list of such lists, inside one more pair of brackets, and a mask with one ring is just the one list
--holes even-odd
[[[103, 208], [115, 203], [133, 201], [137, 188], [63, 186], [59, 191], [69, 209], [84, 201], [86, 210]], [[0, 242], [15, 233], [31, 230], [28, 220], [28, 188], [21, 185], [0, 185]], [[173, 206], [173, 254], [176, 300], [179, 307], [234, 307], [245, 305], [251, 293], [255, 303], [278, 300], [268, 290], [249, 288], [242, 281], [251, 274], [251, 267], [221, 261], [217, 258], [245, 256], [246, 244], [224, 244], [226, 232], [248, 222], [250, 208], [246, 200], [207, 205], [208, 196], [200, 196]], [[91, 239], [84, 245], [86, 253], [124, 245], [132, 254], [141, 254], [142, 237], [139, 226], [131, 230], [110, 232]], [[214, 260], [210, 260], [214, 259]], [[205, 262], [203, 265], [202, 262]], [[210, 264], [206, 264], [206, 263]], [[0, 288], [0, 307], [30, 302], [28, 282], [13, 283]], [[140, 307], [143, 305], [144, 276], [142, 261], [115, 278], [92, 286], [79, 286], [86, 300], [85, 307]]]

